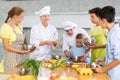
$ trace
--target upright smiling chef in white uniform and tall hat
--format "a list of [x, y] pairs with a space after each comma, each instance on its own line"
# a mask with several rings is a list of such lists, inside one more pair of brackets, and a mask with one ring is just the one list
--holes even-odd
[[51, 59], [51, 48], [55, 46], [58, 39], [57, 29], [49, 24], [50, 6], [45, 6], [36, 12], [40, 16], [41, 22], [31, 29], [30, 44], [34, 44], [36, 49], [30, 54], [30, 58], [37, 60]]

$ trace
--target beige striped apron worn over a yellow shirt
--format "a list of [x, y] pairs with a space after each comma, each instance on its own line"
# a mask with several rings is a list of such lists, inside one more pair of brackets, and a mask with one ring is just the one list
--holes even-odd
[[[21, 30], [20, 27], [19, 27], [19, 29]], [[23, 50], [23, 46], [22, 46], [22, 44], [24, 42], [23, 34], [16, 33], [14, 28], [13, 28], [13, 31], [16, 35], [16, 40], [11, 46], [16, 48], [16, 49]], [[5, 71], [22, 64], [23, 54], [14, 53], [14, 52], [10, 52], [10, 51], [5, 51], [5, 53], [6, 53], [5, 59], [4, 59], [4, 69], [5, 69]]]

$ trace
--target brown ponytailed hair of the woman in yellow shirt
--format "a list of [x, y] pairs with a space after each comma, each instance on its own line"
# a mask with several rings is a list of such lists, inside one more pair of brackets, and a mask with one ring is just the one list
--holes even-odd
[[8, 16], [5, 20], [5, 23], [7, 23], [9, 18], [12, 18], [15, 15], [19, 16], [22, 12], [24, 12], [24, 10], [22, 8], [18, 7], [18, 6], [15, 6], [15, 7], [11, 8], [8, 12]]

